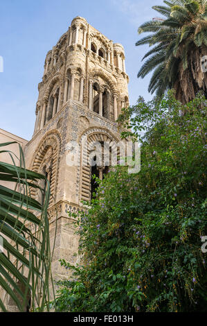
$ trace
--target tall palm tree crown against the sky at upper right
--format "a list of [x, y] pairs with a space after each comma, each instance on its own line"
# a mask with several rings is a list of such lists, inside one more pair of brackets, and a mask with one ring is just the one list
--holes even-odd
[[[202, 91], [207, 96], [207, 3], [206, 0], [169, 0], [166, 6], [153, 6], [165, 16], [153, 19], [138, 28], [138, 33], [150, 33], [136, 42], [153, 48], [138, 72], [144, 78], [154, 71], [149, 92], [162, 96], [174, 88], [177, 100], [185, 104]], [[203, 62], [204, 61], [204, 62]], [[206, 62], [205, 62], [206, 61]]]

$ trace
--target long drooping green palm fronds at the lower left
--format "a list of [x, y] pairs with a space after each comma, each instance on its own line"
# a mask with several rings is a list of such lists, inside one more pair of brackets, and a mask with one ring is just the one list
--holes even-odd
[[[0, 154], [8, 153], [13, 162], [0, 162], [0, 309], [7, 311], [10, 305], [18, 311], [44, 311], [50, 300], [49, 184], [44, 175], [25, 169], [21, 146], [18, 166], [14, 154], [1, 151], [14, 143], [0, 144]], [[39, 180], [45, 180], [44, 189]], [[6, 187], [7, 182], [15, 189]], [[32, 198], [31, 187], [42, 191], [43, 205]]]

